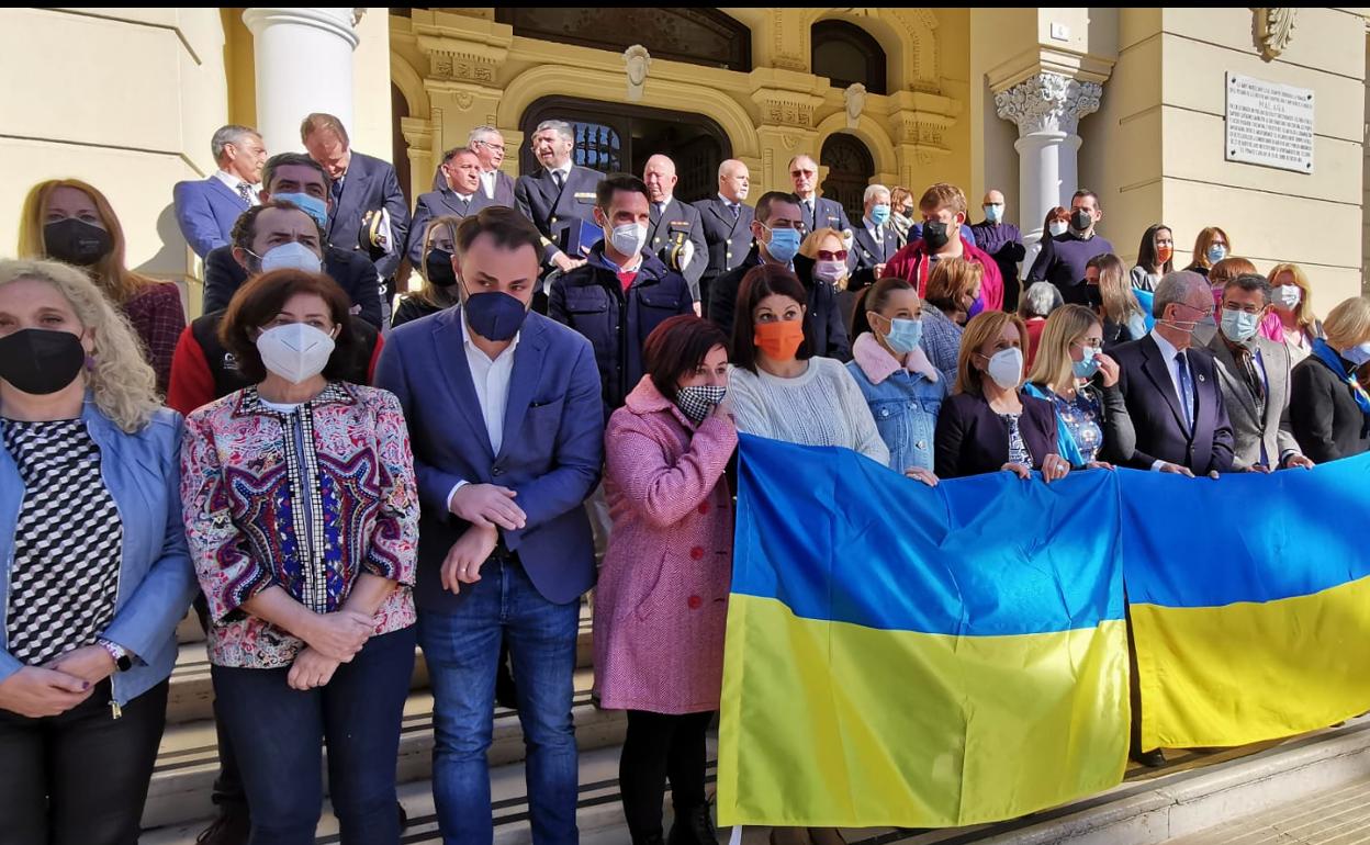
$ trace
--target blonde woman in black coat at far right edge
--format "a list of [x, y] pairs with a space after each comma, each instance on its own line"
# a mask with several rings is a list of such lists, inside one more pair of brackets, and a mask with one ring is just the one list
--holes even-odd
[[1341, 303], [1323, 327], [1289, 389], [1295, 440], [1317, 463], [1370, 451], [1370, 299]]

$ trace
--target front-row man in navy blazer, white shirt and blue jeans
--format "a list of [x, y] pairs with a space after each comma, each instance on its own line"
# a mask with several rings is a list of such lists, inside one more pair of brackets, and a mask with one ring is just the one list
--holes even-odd
[[604, 414], [584, 337], [529, 312], [543, 240], [511, 208], [456, 229], [462, 304], [395, 329], [377, 386], [404, 407], [419, 503], [419, 644], [434, 696], [443, 841], [493, 837], [485, 753], [500, 641], [514, 657], [540, 844], [577, 841], [571, 724], [580, 597], [595, 581], [581, 507]]

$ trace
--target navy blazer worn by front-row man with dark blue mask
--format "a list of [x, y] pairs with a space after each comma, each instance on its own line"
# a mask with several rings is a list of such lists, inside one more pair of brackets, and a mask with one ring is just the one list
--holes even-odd
[[481, 415], [462, 341], [462, 308], [397, 326], [381, 351], [375, 386], [400, 397], [418, 477], [419, 608], [455, 612], [443, 589], [448, 549], [467, 523], [447, 509], [459, 481], [518, 492], [527, 526], [500, 530], [537, 590], [556, 604], [595, 583], [595, 544], [584, 504], [604, 464], [604, 409], [595, 351], [584, 337], [529, 314], [514, 351], [499, 455]]

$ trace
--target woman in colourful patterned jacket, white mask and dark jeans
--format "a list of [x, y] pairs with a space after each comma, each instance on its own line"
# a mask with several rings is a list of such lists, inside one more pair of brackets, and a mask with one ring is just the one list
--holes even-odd
[[337, 381], [355, 334], [325, 275], [256, 277], [221, 337], [255, 385], [186, 420], [181, 499], [252, 840], [312, 841], [326, 740], [341, 841], [396, 844], [377, 760], [399, 751], [418, 541], [399, 400]]

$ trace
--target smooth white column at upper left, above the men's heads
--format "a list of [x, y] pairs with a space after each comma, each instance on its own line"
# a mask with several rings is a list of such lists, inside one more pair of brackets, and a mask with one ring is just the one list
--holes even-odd
[[248, 8], [256, 64], [256, 129], [269, 152], [303, 149], [300, 121], [315, 111], [352, 125], [355, 25], [364, 8]]

